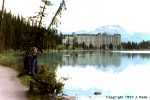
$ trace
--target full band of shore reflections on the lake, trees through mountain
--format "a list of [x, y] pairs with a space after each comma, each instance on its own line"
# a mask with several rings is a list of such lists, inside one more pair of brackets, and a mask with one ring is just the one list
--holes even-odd
[[[101, 67], [120, 67], [130, 63], [143, 63], [150, 58], [149, 53], [120, 53], [100, 51], [50, 52], [39, 58], [39, 64], [59, 64], [86, 67], [87, 65]], [[141, 60], [142, 59], [142, 60]], [[145, 62], [144, 62], [145, 63]]]

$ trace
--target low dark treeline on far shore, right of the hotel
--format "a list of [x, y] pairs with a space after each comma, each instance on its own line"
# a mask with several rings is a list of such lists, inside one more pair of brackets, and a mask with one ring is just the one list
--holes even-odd
[[150, 49], [150, 41], [142, 41], [140, 43], [127, 42], [122, 43], [123, 49]]

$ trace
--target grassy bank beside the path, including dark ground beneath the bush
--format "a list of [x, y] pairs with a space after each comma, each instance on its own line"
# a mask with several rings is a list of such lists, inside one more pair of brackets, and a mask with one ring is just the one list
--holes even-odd
[[[33, 78], [32, 76], [22, 74], [24, 67], [23, 67], [23, 57], [21, 55], [22, 53], [19, 51], [2, 52], [0, 53], [0, 64], [3, 65], [4, 67], [9, 67], [14, 69], [18, 74], [17, 77], [20, 79], [21, 84], [29, 88], [30, 81]], [[32, 92], [32, 91], [27, 91], [27, 98], [29, 100], [43, 100], [44, 97], [45, 95], [41, 95], [39, 93]], [[61, 97], [57, 96], [57, 100], [61, 100]]]

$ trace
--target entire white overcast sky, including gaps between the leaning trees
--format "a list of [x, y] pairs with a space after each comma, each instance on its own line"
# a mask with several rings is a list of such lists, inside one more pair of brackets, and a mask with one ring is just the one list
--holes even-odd
[[[61, 0], [51, 0], [44, 19], [48, 26]], [[120, 25], [129, 32], [150, 33], [149, 0], [65, 0], [67, 10], [63, 12], [58, 29], [62, 32], [91, 31], [105, 25]], [[0, 0], [0, 7], [2, 0]], [[24, 17], [36, 15], [41, 0], [6, 0], [5, 8]], [[52, 10], [50, 10], [52, 9]]]

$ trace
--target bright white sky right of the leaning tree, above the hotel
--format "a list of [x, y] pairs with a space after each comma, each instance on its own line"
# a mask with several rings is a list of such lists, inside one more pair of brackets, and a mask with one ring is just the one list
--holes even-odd
[[64, 31], [121, 25], [132, 32], [150, 32], [148, 0], [70, 0], [62, 18]]

